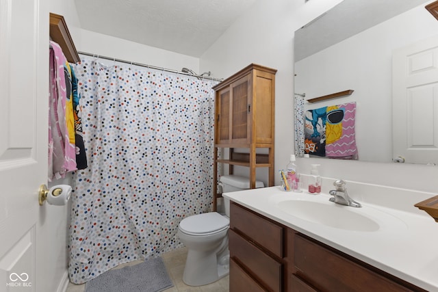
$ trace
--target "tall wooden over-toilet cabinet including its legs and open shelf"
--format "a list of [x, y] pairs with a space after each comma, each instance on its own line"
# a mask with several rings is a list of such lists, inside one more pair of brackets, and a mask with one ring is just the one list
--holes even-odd
[[[274, 185], [274, 116], [276, 70], [256, 64], [225, 79], [214, 86], [214, 211], [216, 211], [218, 165], [248, 167], [250, 188], [255, 187], [256, 168], [268, 168], [268, 185]], [[229, 159], [218, 157], [218, 148], [229, 149]], [[237, 153], [234, 148], [247, 148]], [[257, 148], [267, 148], [260, 155]], [[260, 151], [259, 151], [260, 152]]]

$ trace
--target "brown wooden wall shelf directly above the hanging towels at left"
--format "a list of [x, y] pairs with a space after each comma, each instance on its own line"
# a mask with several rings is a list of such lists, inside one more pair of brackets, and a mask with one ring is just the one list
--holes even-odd
[[60, 45], [68, 62], [77, 63], [81, 60], [62, 15], [50, 14], [50, 38]]

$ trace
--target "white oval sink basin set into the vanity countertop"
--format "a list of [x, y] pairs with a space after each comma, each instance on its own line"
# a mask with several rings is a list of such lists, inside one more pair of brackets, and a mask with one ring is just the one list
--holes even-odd
[[299, 217], [302, 220], [333, 228], [366, 232], [376, 231], [380, 228], [376, 221], [361, 215], [356, 208], [332, 202], [284, 200], [278, 202], [277, 207], [281, 211]]

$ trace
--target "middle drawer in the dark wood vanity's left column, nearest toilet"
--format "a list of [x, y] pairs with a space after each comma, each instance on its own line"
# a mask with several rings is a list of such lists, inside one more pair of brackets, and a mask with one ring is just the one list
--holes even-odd
[[281, 291], [282, 265], [274, 258], [265, 254], [257, 246], [246, 241], [243, 237], [229, 230], [229, 250], [231, 258], [250, 271], [254, 278], [266, 285], [270, 291]]

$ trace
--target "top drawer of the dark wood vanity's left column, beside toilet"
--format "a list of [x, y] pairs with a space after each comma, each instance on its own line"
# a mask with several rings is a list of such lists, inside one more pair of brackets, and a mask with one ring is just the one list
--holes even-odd
[[283, 227], [231, 202], [230, 228], [283, 258]]

